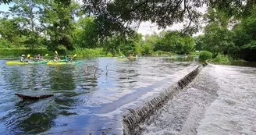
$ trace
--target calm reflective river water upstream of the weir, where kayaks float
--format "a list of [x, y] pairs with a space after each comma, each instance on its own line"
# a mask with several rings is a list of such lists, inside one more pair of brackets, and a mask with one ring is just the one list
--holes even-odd
[[[80, 65], [6, 66], [6, 60], [0, 60], [0, 134], [123, 133], [123, 114], [198, 65], [168, 58], [82, 61]], [[31, 101], [16, 93], [55, 96]]]

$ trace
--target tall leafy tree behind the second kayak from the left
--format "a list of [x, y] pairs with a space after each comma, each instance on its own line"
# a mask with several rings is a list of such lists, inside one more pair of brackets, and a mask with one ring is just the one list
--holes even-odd
[[58, 49], [60, 45], [68, 50], [73, 50], [72, 34], [75, 29], [74, 18], [79, 12], [80, 6], [72, 2], [63, 7], [56, 2], [44, 2], [44, 13], [41, 23], [44, 24], [48, 38], [48, 49]]

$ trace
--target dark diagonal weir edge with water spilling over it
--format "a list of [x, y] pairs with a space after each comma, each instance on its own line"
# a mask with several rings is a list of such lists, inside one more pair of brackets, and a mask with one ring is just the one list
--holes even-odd
[[167, 90], [162, 91], [162, 93], [158, 94], [157, 97], [147, 101], [144, 105], [140, 108], [136, 108], [133, 112], [129, 112], [127, 115], [124, 115], [122, 119], [123, 134], [133, 134], [133, 130], [139, 125], [139, 123], [153, 115], [156, 110], [172, 99], [176, 92], [182, 90], [183, 87], [186, 87], [187, 84], [194, 80], [200, 70], [206, 65], [207, 64], [202, 64], [197, 66], [193, 71], [187, 74], [187, 76], [184, 76]]

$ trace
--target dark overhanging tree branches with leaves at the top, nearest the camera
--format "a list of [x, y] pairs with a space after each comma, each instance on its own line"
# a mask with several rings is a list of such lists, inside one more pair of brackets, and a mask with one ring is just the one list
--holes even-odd
[[200, 24], [201, 12], [197, 9], [203, 5], [239, 17], [250, 14], [254, 3], [254, 0], [84, 0], [84, 11], [95, 16], [94, 21], [101, 24], [98, 27], [105, 36], [115, 34], [114, 31], [130, 31], [134, 22], [143, 21], [157, 23], [160, 28], [187, 22], [183, 32], [193, 34]]

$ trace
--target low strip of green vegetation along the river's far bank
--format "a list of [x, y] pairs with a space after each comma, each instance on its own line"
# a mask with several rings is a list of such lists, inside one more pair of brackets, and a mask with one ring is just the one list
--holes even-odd
[[[76, 56], [77, 59], [119, 56], [119, 55], [112, 55], [112, 53], [109, 53], [109, 52], [105, 52], [103, 48], [94, 48], [94, 49], [93, 48], [76, 48], [74, 51], [59, 49], [58, 52], [61, 57], [64, 57], [65, 55], [77, 54]], [[49, 51], [47, 48], [34, 48], [34, 50], [31, 50], [30, 48], [0, 48], [0, 59], [17, 59], [17, 58], [20, 58], [20, 55], [28, 55], [28, 54], [30, 54], [31, 57], [33, 57], [38, 53], [41, 55], [49, 54], [46, 59], [52, 59], [55, 55], [55, 52]], [[121, 53], [120, 55], [123, 55], [123, 54]], [[194, 59], [191, 59], [191, 58], [198, 58], [197, 60], [200, 62], [207, 61], [208, 63], [212, 63], [216, 65], [256, 66], [255, 62], [248, 62], [248, 61], [245, 61], [244, 59], [232, 59], [228, 55], [217, 55], [215, 58], [212, 58], [212, 53], [207, 51], [190, 52], [187, 55], [178, 55], [176, 53], [156, 51], [156, 52], [151, 52], [151, 54], [142, 55], [142, 56], [169, 57], [170, 59], [174, 59], [176, 61], [180, 61], [180, 60], [194, 61]], [[133, 55], [133, 57], [135, 57], [135, 55]]]

